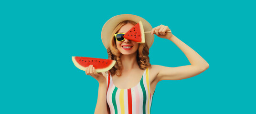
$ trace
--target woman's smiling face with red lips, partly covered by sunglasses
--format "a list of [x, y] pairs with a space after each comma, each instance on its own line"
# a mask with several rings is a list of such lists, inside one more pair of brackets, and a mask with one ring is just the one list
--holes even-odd
[[[133, 24], [127, 23], [119, 29], [118, 33], [126, 33], [132, 27], [134, 27]], [[138, 50], [138, 47], [139, 47], [139, 43], [134, 42], [132, 40], [128, 40], [128, 39], [125, 39], [124, 41], [121, 41], [121, 42], [116, 40], [116, 43], [117, 43], [117, 49], [123, 55], [129, 55], [129, 54], [137, 53], [137, 50]]]

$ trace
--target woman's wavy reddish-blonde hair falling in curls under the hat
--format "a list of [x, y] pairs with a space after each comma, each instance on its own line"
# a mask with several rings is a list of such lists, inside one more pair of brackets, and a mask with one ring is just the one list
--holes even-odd
[[[113, 66], [109, 71], [110, 74], [113, 76], [117, 74], [117, 76], [121, 76], [121, 59], [120, 56], [122, 55], [118, 49], [117, 49], [117, 44], [116, 44], [116, 39], [114, 38], [114, 34], [119, 31], [119, 29], [124, 26], [127, 23], [131, 23], [133, 25], [136, 25], [137, 23], [131, 20], [125, 20], [120, 22], [116, 28], [112, 32], [112, 36], [110, 38], [110, 46], [107, 48], [107, 54], [108, 54], [108, 59], [111, 60], [116, 60], [115, 66]], [[139, 44], [139, 48], [137, 50], [137, 62], [139, 65], [139, 68], [142, 70], [145, 70], [147, 67], [151, 68], [151, 64], [149, 63], [149, 47], [146, 43]]]

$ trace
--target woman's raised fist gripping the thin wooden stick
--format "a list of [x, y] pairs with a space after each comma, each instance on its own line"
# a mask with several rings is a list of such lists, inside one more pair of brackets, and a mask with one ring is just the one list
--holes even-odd
[[173, 35], [167, 31], [171, 31], [171, 29], [168, 26], [160, 25], [151, 30], [151, 35], [156, 34], [160, 38], [171, 39]]

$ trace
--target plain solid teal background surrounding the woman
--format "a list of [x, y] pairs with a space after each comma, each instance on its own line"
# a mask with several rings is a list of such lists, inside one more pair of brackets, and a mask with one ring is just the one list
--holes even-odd
[[[107, 58], [101, 29], [119, 14], [168, 26], [210, 65], [160, 81], [151, 114], [256, 114], [255, 10], [252, 0], [0, 1], [0, 114], [94, 114], [98, 82], [71, 57]], [[156, 35], [149, 57], [190, 65]]]

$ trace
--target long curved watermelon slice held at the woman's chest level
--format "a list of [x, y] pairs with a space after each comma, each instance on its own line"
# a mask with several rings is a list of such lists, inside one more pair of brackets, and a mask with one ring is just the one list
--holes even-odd
[[77, 68], [84, 71], [85, 67], [93, 65], [97, 73], [108, 71], [116, 63], [115, 60], [91, 57], [72, 57], [72, 61]]

